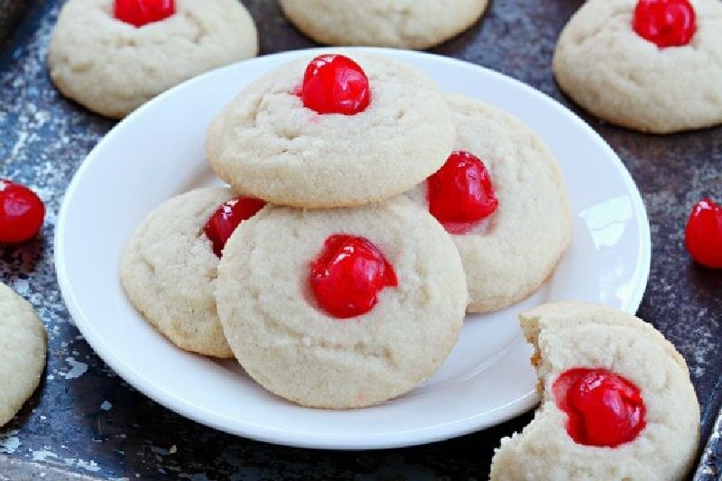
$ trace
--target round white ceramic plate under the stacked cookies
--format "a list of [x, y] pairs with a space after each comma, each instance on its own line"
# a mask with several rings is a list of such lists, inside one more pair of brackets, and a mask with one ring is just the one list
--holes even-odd
[[203, 149], [208, 122], [259, 75], [300, 56], [247, 60], [192, 79], [128, 116], [97, 144], [60, 209], [55, 263], [62, 295], [98, 356], [128, 383], [195, 421], [252, 439], [323, 449], [380, 449], [482, 430], [532, 408], [531, 348], [517, 313], [542, 301], [597, 301], [634, 312], [649, 274], [646, 212], [629, 173], [577, 116], [526, 85], [462, 61], [375, 50], [430, 73], [449, 92], [521, 118], [550, 145], [569, 184], [572, 245], [531, 299], [469, 316], [440, 371], [392, 402], [355, 411], [306, 409], [264, 391], [233, 362], [171, 346], [125, 299], [118, 260], [128, 237], [163, 200], [219, 183]]

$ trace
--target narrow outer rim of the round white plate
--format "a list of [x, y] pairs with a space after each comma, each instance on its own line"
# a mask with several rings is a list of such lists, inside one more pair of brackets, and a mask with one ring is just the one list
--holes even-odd
[[[156, 104], [164, 102], [166, 97], [176, 95], [176, 92], [180, 89], [187, 88], [197, 82], [203, 82], [208, 77], [218, 75], [218, 72], [232, 69], [240, 69], [242, 66], [253, 63], [255, 65], [264, 66], [266, 63], [281, 62], [282, 60], [291, 60], [294, 58], [301, 57], [303, 55], [312, 55], [314, 53], [326, 52], [326, 51], [367, 51], [370, 53], [380, 53], [398, 57], [405, 57], [411, 55], [412, 57], [427, 58], [433, 62], [441, 62], [446, 64], [453, 64], [454, 67], [463, 66], [470, 69], [480, 69], [485, 75], [492, 76], [495, 78], [503, 79], [505, 82], [511, 82], [518, 88], [523, 88], [531, 95], [540, 98], [542, 102], [551, 106], [555, 110], [560, 111], [565, 116], [568, 116], [574, 121], [576, 125], [582, 130], [585, 130], [587, 134], [592, 136], [596, 143], [606, 151], [606, 157], [610, 161], [613, 161], [615, 171], [620, 175], [625, 185], [626, 193], [631, 199], [633, 199], [632, 206], [634, 211], [634, 217], [638, 219], [636, 226], [639, 228], [639, 242], [636, 245], [637, 253], [635, 258], [638, 260], [637, 269], [634, 277], [638, 280], [634, 284], [634, 290], [631, 291], [626, 298], [625, 305], [619, 309], [625, 310], [631, 314], [634, 314], [639, 308], [642, 300], [643, 293], [646, 289], [647, 282], [649, 280], [649, 274], [651, 270], [651, 257], [652, 257], [652, 245], [651, 245], [651, 228], [649, 224], [649, 218], [647, 216], [646, 208], [643, 203], [642, 195], [637, 188], [631, 173], [626, 169], [624, 162], [618, 154], [612, 149], [612, 147], [606, 143], [606, 140], [601, 137], [590, 125], [588, 125], [583, 119], [572, 112], [567, 106], [564, 106], [557, 100], [553, 99], [549, 95], [545, 94], [541, 90], [532, 87], [518, 79], [514, 79], [508, 75], [498, 72], [494, 69], [489, 69], [481, 65], [477, 65], [467, 60], [460, 60], [456, 58], [446, 57], [440, 54], [424, 52], [424, 51], [401, 51], [395, 49], [386, 48], [365, 48], [365, 47], [344, 47], [342, 49], [334, 48], [312, 48], [312, 49], [301, 49], [295, 51], [283, 51], [279, 53], [272, 53], [257, 57], [250, 60], [242, 60], [234, 64], [230, 64], [219, 69], [210, 70], [206, 73], [199, 75], [193, 79], [189, 79], [169, 90], [163, 92], [158, 97], [153, 98], [148, 103], [144, 104], [125, 119], [119, 121], [114, 125], [100, 141], [90, 150], [85, 159], [80, 163], [79, 168], [73, 174], [72, 180], [70, 180], [68, 188], [65, 190], [58, 217], [55, 225], [55, 232], [53, 236], [53, 257], [54, 267], [56, 276], [60, 286], [60, 294], [69, 310], [71, 322], [74, 321], [76, 327], [79, 329], [80, 334], [88, 342], [88, 345], [93, 348], [103, 362], [109, 365], [121, 378], [123, 378], [128, 384], [134, 386], [140, 393], [158, 402], [163, 407], [170, 409], [173, 412], [177, 412], [181, 416], [188, 418], [192, 421], [199, 422], [200, 424], [209, 426], [211, 428], [221, 430], [236, 436], [241, 436], [247, 439], [255, 439], [264, 442], [270, 442], [273, 444], [279, 444], [283, 446], [292, 446], [297, 448], [307, 449], [389, 449], [389, 448], [401, 448], [414, 446], [419, 444], [430, 443], [439, 441], [442, 439], [451, 439], [458, 436], [475, 432], [477, 430], [483, 430], [488, 427], [494, 426], [495, 424], [508, 421], [523, 412], [527, 412], [538, 402], [538, 394], [533, 390], [524, 394], [519, 399], [512, 403], [505, 404], [497, 407], [495, 410], [490, 412], [484, 412], [483, 416], [486, 418], [485, 422], [473, 422], [475, 417], [470, 419], [461, 419], [442, 425], [423, 427], [419, 430], [414, 430], [416, 436], [413, 438], [399, 436], [398, 431], [390, 433], [380, 433], [375, 435], [365, 435], [366, 439], [355, 438], [351, 435], [341, 435], [338, 433], [328, 434], [320, 433], [314, 434], [313, 439], [308, 438], [308, 433], [297, 433], [289, 430], [268, 430], [263, 425], [254, 425], [248, 422], [244, 423], [244, 430], [229, 429], [229, 426], [221, 423], [222, 416], [215, 412], [204, 411], [198, 409], [198, 406], [191, 406], [188, 402], [166, 395], [165, 391], [158, 389], [143, 376], [136, 376], [134, 369], [127, 367], [122, 357], [116, 356], [112, 349], [106, 346], [106, 342], [97, 336], [95, 328], [92, 326], [90, 319], [86, 319], [82, 309], [79, 307], [79, 302], [76, 298], [75, 292], [69, 282], [69, 274], [67, 272], [67, 264], [64, 253], [66, 253], [65, 236], [67, 217], [69, 215], [69, 208], [71, 200], [74, 197], [75, 191], [79, 188], [86, 171], [97, 162], [97, 152], [102, 151], [105, 144], [112, 142], [112, 137], [116, 134], [118, 129], [123, 128], [123, 125], [134, 120], [136, 116], [143, 116], [143, 112], [148, 109], [152, 109]], [[78, 319], [81, 319], [79, 321]], [[499, 363], [504, 360], [505, 357], [510, 356], [514, 350], [514, 346], [519, 344], [525, 345], [523, 336], [518, 335], [516, 338], [509, 341], [509, 345], [506, 347], [506, 352], [499, 356], [495, 363]], [[514, 345], [514, 346], [513, 346]], [[195, 408], [195, 409], [192, 409]], [[504, 408], [505, 411], [504, 411]], [[303, 408], [309, 409], [309, 408]], [[203, 417], [200, 415], [201, 412], [207, 412], [209, 417]], [[489, 416], [490, 414], [495, 414]], [[489, 419], [490, 418], [490, 419]], [[233, 428], [233, 427], [231, 427]]]

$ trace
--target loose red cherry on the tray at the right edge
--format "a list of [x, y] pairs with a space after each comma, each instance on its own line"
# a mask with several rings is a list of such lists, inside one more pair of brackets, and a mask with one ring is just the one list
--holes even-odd
[[722, 206], [711, 199], [700, 200], [692, 208], [684, 230], [687, 252], [697, 263], [722, 268]]

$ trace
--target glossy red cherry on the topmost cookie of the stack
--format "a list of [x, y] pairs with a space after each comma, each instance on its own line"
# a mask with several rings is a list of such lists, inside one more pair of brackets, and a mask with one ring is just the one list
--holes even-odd
[[301, 85], [303, 106], [319, 114], [353, 116], [371, 99], [366, 73], [343, 55], [319, 55], [306, 67]]

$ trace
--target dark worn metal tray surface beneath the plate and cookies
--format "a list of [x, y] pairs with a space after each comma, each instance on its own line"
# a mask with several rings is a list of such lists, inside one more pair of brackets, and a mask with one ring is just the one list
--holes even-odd
[[[683, 230], [699, 199], [722, 200], [722, 127], [640, 134], [601, 123], [573, 105], [554, 82], [551, 56], [562, 26], [582, 3], [494, 0], [478, 23], [432, 51], [542, 90], [587, 120], [625, 162], [652, 227], [652, 270], [638, 315], [690, 365], [703, 408], [701, 461], [690, 477], [719, 479], [722, 271], [690, 262]], [[293, 449], [184, 419], [136, 392], [93, 353], [60, 297], [52, 235], [69, 180], [115, 123], [61, 97], [51, 83], [45, 56], [61, 4], [0, 1], [0, 177], [36, 190], [48, 209], [41, 236], [0, 246], [0, 281], [32, 302], [50, 335], [40, 388], [0, 429], [0, 479], [486, 479], [499, 439], [520, 430], [530, 413], [413, 448]], [[258, 25], [262, 54], [316, 46], [273, 0], [245, 4]], [[88, 228], [92, 224], [88, 219]]]

